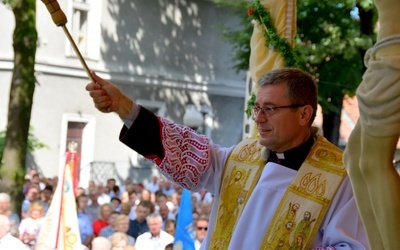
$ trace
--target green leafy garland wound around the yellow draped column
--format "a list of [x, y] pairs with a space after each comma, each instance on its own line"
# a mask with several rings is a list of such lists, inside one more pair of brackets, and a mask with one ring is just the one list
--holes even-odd
[[[262, 30], [265, 38], [265, 46], [273, 47], [275, 51], [282, 53], [286, 66], [295, 66], [297, 62], [296, 56], [289, 42], [277, 34], [275, 26], [271, 23], [271, 15], [261, 5], [260, 0], [254, 0], [253, 3], [250, 4], [247, 14], [256, 20], [260, 26], [264, 27]], [[251, 107], [254, 106], [255, 100], [256, 95], [252, 93], [250, 99], [247, 101], [247, 108], [245, 110], [245, 113], [249, 117], [251, 116]]]

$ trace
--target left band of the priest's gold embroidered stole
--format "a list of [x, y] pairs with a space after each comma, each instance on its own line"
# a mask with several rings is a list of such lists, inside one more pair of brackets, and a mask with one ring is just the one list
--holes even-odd
[[240, 142], [230, 155], [222, 175], [220, 199], [210, 249], [227, 249], [237, 219], [261, 175], [268, 153], [255, 139]]

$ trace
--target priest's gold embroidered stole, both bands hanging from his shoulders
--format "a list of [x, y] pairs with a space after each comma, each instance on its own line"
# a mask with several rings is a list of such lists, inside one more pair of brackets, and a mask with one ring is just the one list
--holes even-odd
[[[260, 249], [289, 249], [289, 242], [302, 242], [301, 249], [310, 249], [346, 176], [342, 151], [322, 135], [316, 137], [310, 153], [280, 201]], [[257, 139], [245, 139], [235, 147], [222, 176], [210, 249], [228, 248], [238, 218], [261, 176], [268, 155], [268, 150]], [[297, 214], [300, 208], [306, 212]]]

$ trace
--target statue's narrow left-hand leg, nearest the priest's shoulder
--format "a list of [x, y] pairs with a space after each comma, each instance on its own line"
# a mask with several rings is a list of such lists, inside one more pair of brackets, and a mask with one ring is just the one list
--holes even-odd
[[366, 182], [361, 168], [361, 126], [357, 122], [351, 132], [344, 152], [344, 163], [353, 187], [354, 197], [359, 208], [360, 217], [364, 223], [368, 241], [371, 249], [384, 249], [380, 231], [377, 230], [378, 222], [372, 208], [372, 201], [369, 195], [370, 186]]

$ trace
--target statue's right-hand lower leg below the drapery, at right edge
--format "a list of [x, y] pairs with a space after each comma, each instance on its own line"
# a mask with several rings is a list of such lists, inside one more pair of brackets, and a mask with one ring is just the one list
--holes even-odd
[[384, 245], [380, 249], [400, 249], [400, 176], [393, 164], [398, 138], [374, 137], [368, 133], [361, 136], [361, 172]]

